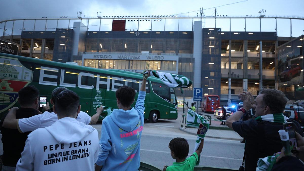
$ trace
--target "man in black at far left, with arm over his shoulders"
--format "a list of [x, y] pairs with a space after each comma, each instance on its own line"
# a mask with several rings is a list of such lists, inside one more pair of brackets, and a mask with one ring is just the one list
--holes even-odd
[[[17, 110], [17, 119], [37, 115], [37, 109], [39, 108], [39, 90], [31, 85], [22, 88], [18, 92], [18, 102], [20, 108]], [[25, 146], [27, 135], [30, 132], [21, 134], [16, 129], [2, 127], [5, 117], [6, 114], [2, 117], [0, 122], [3, 143], [2, 170], [15, 170], [16, 164]]]

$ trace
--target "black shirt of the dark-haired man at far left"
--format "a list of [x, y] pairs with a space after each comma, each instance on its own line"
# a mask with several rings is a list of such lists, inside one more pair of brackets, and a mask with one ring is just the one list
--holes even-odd
[[[19, 108], [16, 113], [16, 118], [27, 118], [37, 115], [38, 112], [32, 108]], [[3, 155], [2, 161], [4, 166], [16, 167], [16, 164], [21, 157], [21, 152], [25, 146], [25, 141], [27, 135], [30, 132], [25, 132], [21, 134], [17, 129], [9, 129], [2, 127], [3, 120], [6, 117], [5, 114], [0, 122], [0, 129], [2, 134], [2, 143], [3, 143]]]

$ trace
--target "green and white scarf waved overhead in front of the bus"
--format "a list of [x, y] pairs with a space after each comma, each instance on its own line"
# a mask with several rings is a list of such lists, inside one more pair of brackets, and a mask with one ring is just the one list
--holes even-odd
[[[147, 76], [147, 73], [148, 73], [147, 70], [143, 71], [144, 77]], [[192, 81], [183, 75], [170, 74], [167, 72], [159, 72], [155, 70], [150, 71], [150, 75], [160, 78], [161, 81], [168, 87], [181, 88], [181, 92], [183, 92], [182, 89], [188, 88], [192, 85]]]

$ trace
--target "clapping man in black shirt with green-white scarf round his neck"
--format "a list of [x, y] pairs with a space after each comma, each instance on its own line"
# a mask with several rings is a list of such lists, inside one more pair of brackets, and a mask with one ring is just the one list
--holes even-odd
[[[239, 95], [244, 101], [243, 107], [233, 113], [226, 121], [227, 126], [246, 138], [245, 170], [256, 170], [257, 160], [281, 151], [282, 142], [278, 130], [283, 129], [283, 123], [293, 122], [295, 131], [304, 136], [298, 122], [283, 115], [287, 98], [282, 91], [276, 89], [261, 90], [254, 100], [250, 92]], [[240, 121], [248, 110], [255, 107], [256, 119]]]

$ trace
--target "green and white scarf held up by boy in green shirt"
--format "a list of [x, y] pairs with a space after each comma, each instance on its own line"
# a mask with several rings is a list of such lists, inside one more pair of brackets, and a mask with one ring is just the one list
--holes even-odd
[[[201, 140], [205, 138], [206, 132], [209, 129], [209, 122], [199, 114], [195, 113], [193, 110], [188, 109], [186, 124], [188, 127], [199, 128], [197, 131], [197, 138], [195, 141], [194, 151], [199, 148]], [[200, 159], [200, 156], [199, 156]], [[196, 166], [199, 165], [199, 159], [196, 162]]]

